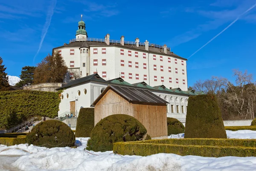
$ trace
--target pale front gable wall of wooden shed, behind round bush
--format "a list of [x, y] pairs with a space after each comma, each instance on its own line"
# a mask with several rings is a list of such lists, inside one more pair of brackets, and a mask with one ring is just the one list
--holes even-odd
[[94, 107], [94, 126], [103, 118], [113, 114], [126, 114], [133, 116], [132, 104], [121, 96], [108, 90]]

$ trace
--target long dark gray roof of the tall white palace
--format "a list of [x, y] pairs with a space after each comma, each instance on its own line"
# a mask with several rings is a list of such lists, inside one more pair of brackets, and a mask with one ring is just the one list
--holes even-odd
[[145, 46], [141, 46], [141, 45], [139, 47], [137, 47], [135, 45], [129, 45], [129, 44], [125, 44], [124, 46], [122, 46], [120, 43], [110, 43], [110, 45], [107, 45], [107, 43], [105, 43], [105, 42], [93, 42], [93, 41], [72, 42], [72, 43], [69, 43], [69, 44], [64, 45], [64, 46], [56, 47], [56, 48], [52, 49], [52, 52], [55, 49], [59, 49], [59, 48], [63, 48], [63, 47], [89, 47], [89, 46], [118, 46], [120, 48], [139, 50], [139, 51], [143, 51], [143, 52], [150, 52], [150, 53], [160, 54], [160, 55], [168, 55], [168, 56], [173, 56], [173, 57], [180, 58], [180, 59], [183, 59], [183, 60], [187, 60], [186, 58], [182, 58], [182, 57], [176, 55], [175, 53], [173, 53], [171, 51], [167, 51], [167, 54], [165, 54], [163, 52], [163, 49], [160, 49], [158, 47], [149, 46], [148, 51], [147, 51], [147, 50], [145, 50]]

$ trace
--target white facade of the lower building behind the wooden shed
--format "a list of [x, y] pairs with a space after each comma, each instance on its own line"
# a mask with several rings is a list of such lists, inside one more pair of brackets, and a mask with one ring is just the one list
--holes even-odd
[[[87, 81], [85, 83], [77, 84], [72, 87], [67, 87], [61, 93], [61, 103], [59, 105], [58, 117], [63, 117], [66, 115], [66, 113], [70, 113], [70, 102], [72, 101], [76, 101], [76, 113], [78, 116], [80, 108], [90, 107], [93, 101], [97, 99], [97, 97], [102, 93], [104, 88], [107, 86], [108, 83], [98, 81]], [[85, 91], [86, 93], [84, 93]], [[170, 103], [167, 105], [167, 117], [173, 117], [185, 123], [187, 99], [189, 98], [189, 95], [165, 92], [160, 90], [150, 91]], [[177, 108], [178, 111], [176, 110]]]

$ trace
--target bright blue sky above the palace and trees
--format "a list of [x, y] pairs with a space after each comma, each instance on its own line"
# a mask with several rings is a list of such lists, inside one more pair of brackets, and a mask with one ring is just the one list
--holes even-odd
[[[88, 37], [166, 44], [189, 58], [256, 0], [12, 0], [0, 3], [0, 56], [9, 75], [35, 66], [52, 48], [75, 38], [83, 14]], [[188, 85], [232, 69], [256, 72], [256, 7], [187, 61]]]

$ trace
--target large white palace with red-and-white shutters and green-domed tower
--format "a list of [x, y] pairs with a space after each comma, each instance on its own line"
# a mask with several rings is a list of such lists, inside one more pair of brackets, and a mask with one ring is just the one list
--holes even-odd
[[76, 38], [56, 47], [52, 52], [63, 57], [70, 78], [82, 78], [98, 73], [105, 80], [121, 77], [134, 84], [145, 82], [151, 87], [165, 85], [169, 89], [187, 91], [186, 59], [166, 45], [135, 41], [88, 38], [85, 23], [81, 18]]

